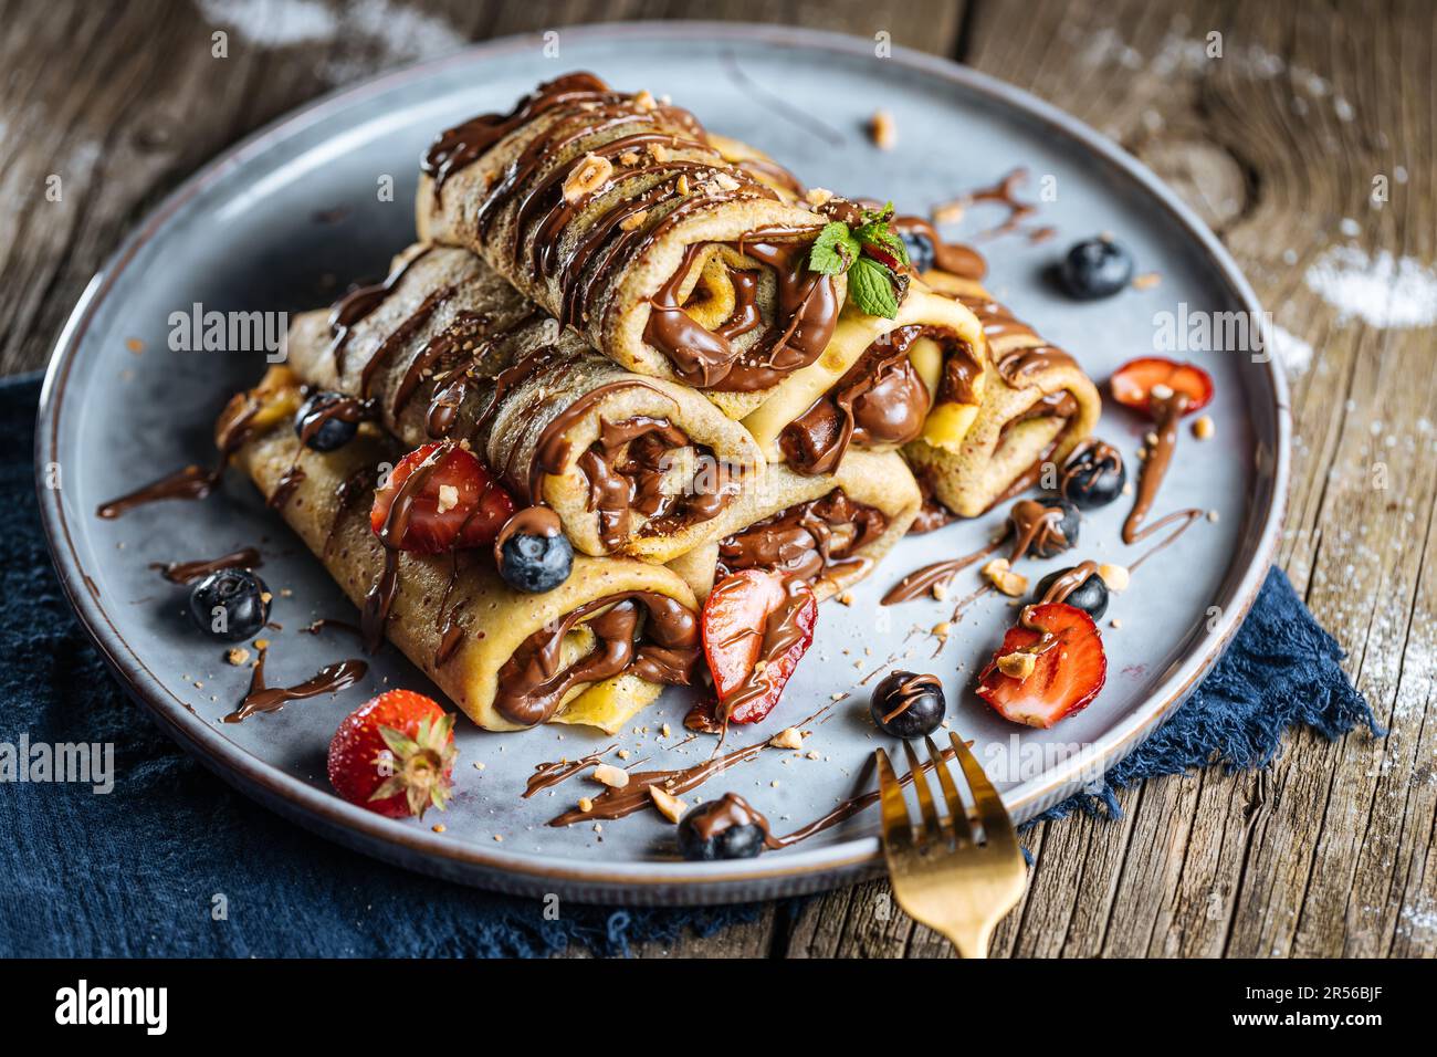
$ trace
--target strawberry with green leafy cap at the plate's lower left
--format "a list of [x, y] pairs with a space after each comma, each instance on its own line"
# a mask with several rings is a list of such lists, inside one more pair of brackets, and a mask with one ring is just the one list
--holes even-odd
[[454, 777], [454, 715], [412, 690], [388, 690], [345, 716], [329, 742], [329, 784], [391, 818], [444, 810]]

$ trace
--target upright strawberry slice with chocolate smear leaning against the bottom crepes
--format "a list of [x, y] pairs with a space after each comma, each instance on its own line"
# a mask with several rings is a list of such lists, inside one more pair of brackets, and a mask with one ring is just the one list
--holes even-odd
[[766, 569], [724, 577], [700, 618], [720, 722], [757, 723], [813, 641], [818, 600], [802, 580]]

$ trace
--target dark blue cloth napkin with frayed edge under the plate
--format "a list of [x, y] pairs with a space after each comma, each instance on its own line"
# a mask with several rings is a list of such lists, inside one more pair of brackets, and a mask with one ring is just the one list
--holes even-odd
[[[331, 844], [233, 792], [128, 700], [80, 630], [39, 525], [39, 380], [0, 384], [0, 742], [114, 742], [114, 791], [0, 782], [0, 956], [601, 953], [711, 933], [757, 906], [562, 907], [421, 877]], [[1101, 788], [1053, 808], [1117, 811], [1154, 775], [1263, 767], [1282, 732], [1377, 725], [1332, 637], [1273, 569], [1227, 657]], [[226, 915], [213, 909], [223, 896]]]

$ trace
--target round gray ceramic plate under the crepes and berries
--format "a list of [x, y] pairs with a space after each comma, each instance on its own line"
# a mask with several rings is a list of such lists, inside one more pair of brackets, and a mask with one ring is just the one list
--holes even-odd
[[[583, 779], [552, 797], [520, 800], [533, 767], [609, 741], [572, 728], [487, 735], [464, 725], [458, 797], [443, 834], [431, 831], [433, 818], [391, 821], [351, 807], [325, 779], [329, 736], [378, 687], [424, 687], [422, 677], [389, 650], [365, 683], [339, 697], [224, 725], [220, 718], [243, 695], [247, 673], [227, 666], [223, 650], [194, 631], [182, 614], [182, 590], [148, 562], [257, 544], [270, 587], [292, 591], [274, 611], [285, 630], [272, 636], [272, 682], [297, 682], [351, 656], [354, 644], [342, 637], [299, 633], [316, 616], [351, 608], [236, 475], [205, 502], [154, 505], [114, 522], [95, 516], [98, 503], [161, 472], [208, 462], [217, 410], [263, 370], [253, 352], [171, 351], [172, 312], [194, 303], [295, 311], [328, 303], [336, 286], [381, 275], [389, 255], [412, 237], [417, 158], [434, 132], [474, 112], [507, 108], [566, 69], [671, 93], [710, 128], [772, 151], [810, 184], [892, 197], [914, 211], [1017, 165], [1033, 174], [1030, 196], [1039, 175], [1055, 175], [1056, 201], [1042, 207], [1040, 223], [1056, 226], [1058, 237], [987, 244], [990, 285], [1048, 338], [1073, 349], [1099, 381], [1152, 349], [1155, 312], [1175, 311], [1180, 302], [1190, 312], [1256, 308], [1213, 236], [1147, 170], [1052, 106], [960, 66], [901, 50], [875, 59], [865, 40], [726, 24], [565, 30], [559, 43], [556, 60], [542, 56], [539, 37], [500, 40], [325, 99], [214, 161], [145, 220], [85, 292], [50, 364], [36, 460], [42, 482], [56, 465], [63, 485], [40, 488], [55, 561], [111, 666], [165, 729], [239, 788], [346, 844], [476, 884], [609, 902], [740, 900], [852, 880], [879, 861], [872, 813], [782, 853], [713, 864], [678, 861], [673, 828], [654, 813], [611, 823], [602, 834], [589, 825], [546, 827], [581, 794]], [[773, 95], [780, 89], [782, 102]], [[900, 145], [891, 152], [877, 151], [864, 134], [878, 104], [897, 119]], [[378, 194], [387, 177], [395, 184], [392, 201]], [[996, 220], [974, 211], [954, 234]], [[1161, 285], [1088, 305], [1053, 293], [1043, 270], [1061, 247], [1104, 230], [1134, 250], [1141, 270], [1160, 273]], [[135, 341], [142, 342], [138, 352]], [[851, 693], [809, 726], [806, 748], [822, 758], [764, 752], [713, 779], [706, 792], [736, 790], [775, 828], [789, 831], [871, 788], [878, 735], [859, 683], [908, 651], [904, 666], [941, 674], [953, 728], [976, 739], [990, 768], [1006, 775], [1004, 798], [1019, 818], [1056, 802], [1141, 742], [1242, 621], [1273, 551], [1288, 476], [1279, 374], [1239, 352], [1191, 358], [1216, 378], [1210, 413], [1217, 436], [1200, 446], [1184, 431], [1177, 472], [1158, 506], [1196, 505], [1221, 516], [1197, 523], [1115, 598], [1109, 616], [1121, 618], [1122, 630], [1105, 628], [1109, 679], [1092, 706], [1039, 732], [1004, 723], [973, 696], [976, 666], [1013, 616], [1002, 600], [971, 610], [935, 659], [933, 640], [908, 631], [931, 627], [947, 605], [878, 610], [898, 575], [971, 549], [993, 518], [960, 523], [901, 544], [852, 607], [825, 607], [815, 647], [764, 725], [772, 733], [832, 695]], [[1119, 408], [1108, 411], [1099, 431], [1131, 457], [1142, 426]], [[1125, 506], [1086, 521], [1082, 557], [1132, 559], [1135, 549], [1117, 536]], [[1058, 564], [1035, 564], [1032, 572]], [[642, 719], [648, 733], [621, 738], [634, 749], [632, 761], [684, 765], [707, 752], [707, 742], [665, 749], [655, 733], [665, 720], [678, 731], [687, 703], [670, 690]], [[739, 732], [730, 743], [756, 736]], [[667, 743], [678, 739], [675, 733]], [[1072, 755], [1078, 748], [1085, 755]], [[470, 767], [474, 761], [484, 769]]]

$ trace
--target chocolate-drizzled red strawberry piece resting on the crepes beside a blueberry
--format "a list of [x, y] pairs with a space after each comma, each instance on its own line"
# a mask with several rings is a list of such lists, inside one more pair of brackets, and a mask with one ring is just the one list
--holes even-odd
[[404, 456], [375, 492], [369, 528], [398, 551], [440, 554], [493, 544], [513, 512], [514, 500], [473, 452], [434, 443]]

